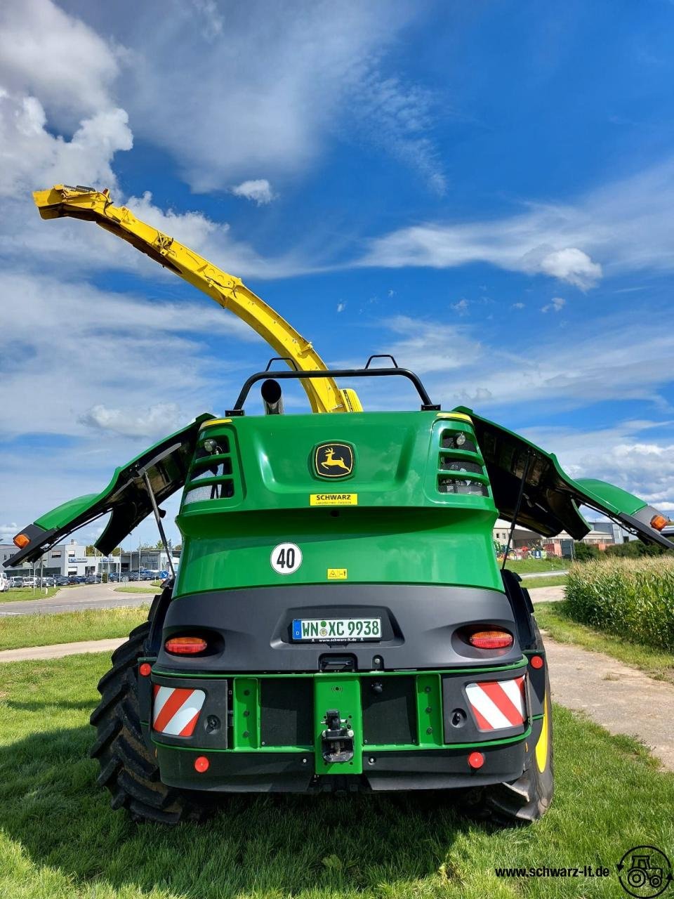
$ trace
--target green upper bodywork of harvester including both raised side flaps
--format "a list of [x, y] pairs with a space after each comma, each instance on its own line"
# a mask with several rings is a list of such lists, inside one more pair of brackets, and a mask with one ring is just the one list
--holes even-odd
[[[476, 449], [452, 444], [458, 433]], [[207, 451], [206, 439], [223, 445]], [[316, 474], [316, 448], [331, 441], [352, 448], [350, 475]], [[23, 530], [29, 546], [5, 565], [38, 558], [45, 547], [108, 512], [96, 546], [104, 553], [119, 546], [151, 512], [146, 470], [157, 503], [185, 485], [176, 596], [324, 583], [328, 569], [346, 570], [343, 580], [350, 582], [500, 590], [492, 525], [497, 515], [512, 520], [526, 467], [519, 524], [542, 536], [566, 530], [581, 539], [590, 530], [578, 510], [586, 504], [641, 539], [672, 547], [650, 526], [656, 510], [643, 500], [602, 481], [573, 480], [553, 453], [459, 406], [454, 413], [200, 415], [117, 468], [100, 493], [42, 515]], [[313, 505], [312, 494], [350, 494], [357, 501]], [[302, 565], [293, 574], [277, 574], [270, 565], [271, 550], [281, 542], [302, 547]]]

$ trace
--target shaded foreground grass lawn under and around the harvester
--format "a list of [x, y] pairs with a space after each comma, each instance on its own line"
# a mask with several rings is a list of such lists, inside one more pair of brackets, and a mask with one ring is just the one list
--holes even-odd
[[[12, 899], [519, 899], [623, 895], [616, 862], [674, 846], [674, 775], [555, 708], [557, 793], [528, 829], [470, 823], [437, 791], [230, 797], [208, 824], [130, 823], [87, 757], [102, 654], [3, 666], [0, 895]], [[494, 867], [605, 865], [606, 878]]]

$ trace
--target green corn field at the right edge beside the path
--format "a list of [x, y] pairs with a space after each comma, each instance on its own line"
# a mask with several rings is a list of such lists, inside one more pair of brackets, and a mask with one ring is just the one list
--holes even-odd
[[674, 650], [674, 558], [599, 559], [572, 565], [566, 613], [633, 643]]

